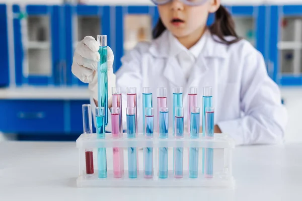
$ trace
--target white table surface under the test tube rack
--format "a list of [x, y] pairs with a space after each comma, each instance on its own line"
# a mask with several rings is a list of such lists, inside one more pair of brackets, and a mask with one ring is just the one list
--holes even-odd
[[235, 189], [77, 188], [75, 142], [0, 143], [0, 200], [301, 200], [302, 144], [236, 147]]

